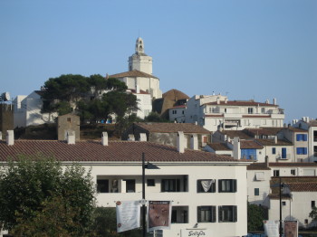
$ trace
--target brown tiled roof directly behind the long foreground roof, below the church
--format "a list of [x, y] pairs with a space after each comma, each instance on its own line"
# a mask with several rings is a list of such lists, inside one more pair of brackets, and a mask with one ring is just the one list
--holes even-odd
[[149, 132], [176, 133], [183, 131], [184, 133], [210, 134], [206, 128], [192, 123], [134, 123], [140, 128], [144, 128]]

